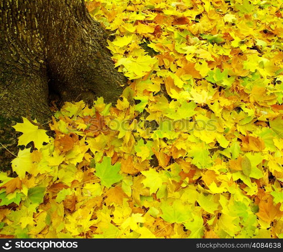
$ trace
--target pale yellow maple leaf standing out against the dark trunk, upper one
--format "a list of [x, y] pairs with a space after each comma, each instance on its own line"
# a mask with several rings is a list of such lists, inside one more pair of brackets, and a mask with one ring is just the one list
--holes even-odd
[[[23, 133], [19, 137], [18, 145], [27, 146], [30, 142], [34, 143], [34, 147], [40, 149], [43, 143], [49, 143], [50, 138], [46, 135], [45, 130], [38, 129], [38, 126], [32, 124], [27, 118], [23, 118], [23, 123], [17, 123], [13, 128]], [[36, 120], [34, 121], [36, 123]]]

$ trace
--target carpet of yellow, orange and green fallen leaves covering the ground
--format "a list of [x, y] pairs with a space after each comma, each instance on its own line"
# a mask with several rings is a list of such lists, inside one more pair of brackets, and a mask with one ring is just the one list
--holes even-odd
[[280, 0], [95, 0], [116, 106], [23, 119], [2, 237], [283, 238]]

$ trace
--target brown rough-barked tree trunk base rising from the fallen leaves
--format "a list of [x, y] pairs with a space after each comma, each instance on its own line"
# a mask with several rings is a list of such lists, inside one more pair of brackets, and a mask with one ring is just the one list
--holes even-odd
[[[105, 47], [107, 33], [83, 0], [0, 0], [0, 168], [17, 153], [11, 125], [48, 121], [48, 93], [62, 101], [116, 102], [126, 83]], [[5, 148], [4, 148], [5, 146]], [[8, 150], [7, 150], [8, 149]], [[10, 152], [9, 152], [10, 151]]]

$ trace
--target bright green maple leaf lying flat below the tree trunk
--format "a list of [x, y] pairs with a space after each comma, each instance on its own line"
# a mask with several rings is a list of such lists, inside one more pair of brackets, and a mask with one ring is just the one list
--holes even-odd
[[111, 158], [104, 157], [101, 163], [95, 164], [96, 172], [94, 174], [101, 179], [102, 185], [109, 188], [112, 184], [119, 182], [123, 178], [123, 176], [118, 173], [120, 167], [121, 164], [117, 163], [111, 165]]

